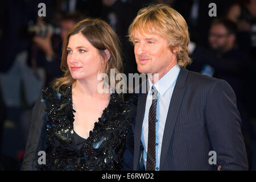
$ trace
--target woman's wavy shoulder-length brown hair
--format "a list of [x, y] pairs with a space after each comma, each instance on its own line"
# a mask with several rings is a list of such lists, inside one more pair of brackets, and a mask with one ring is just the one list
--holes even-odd
[[110, 80], [113, 80], [115, 84], [115, 78], [110, 77], [110, 69], [114, 69], [115, 73], [118, 74], [122, 72], [122, 56], [121, 56], [121, 44], [119, 42], [117, 34], [112, 30], [108, 23], [104, 20], [96, 18], [86, 18], [79, 23], [76, 23], [75, 26], [68, 31], [67, 35], [63, 40], [62, 55], [60, 69], [64, 72], [64, 76], [56, 78], [52, 82], [52, 87], [59, 92], [61, 87], [64, 87], [67, 91], [68, 86], [72, 85], [76, 80], [72, 78], [71, 73], [68, 69], [67, 64], [67, 46], [69, 37], [71, 35], [81, 33], [88, 39], [88, 41], [98, 49], [100, 55], [105, 59], [106, 53], [105, 50], [108, 49], [110, 52], [110, 58], [105, 65], [104, 73], [109, 76], [109, 85]]

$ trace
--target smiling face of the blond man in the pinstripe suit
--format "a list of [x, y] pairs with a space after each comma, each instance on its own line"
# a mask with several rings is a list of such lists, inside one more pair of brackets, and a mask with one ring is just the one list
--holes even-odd
[[163, 77], [177, 63], [167, 39], [155, 34], [134, 32], [134, 53], [141, 73], [159, 73]]

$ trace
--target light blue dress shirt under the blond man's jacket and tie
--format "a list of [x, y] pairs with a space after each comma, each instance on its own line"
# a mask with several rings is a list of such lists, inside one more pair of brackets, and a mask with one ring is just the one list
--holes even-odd
[[[180, 73], [179, 65], [175, 65], [164, 75], [156, 84], [154, 85], [155, 88], [158, 90], [158, 106], [156, 108], [156, 167], [155, 170], [159, 170], [160, 166], [160, 155], [161, 155], [161, 147], [162, 147], [162, 140], [163, 140], [163, 133], [164, 133], [164, 126], [166, 124], [166, 117], [172, 97], [172, 92], [174, 91], [174, 86], [176, 84], [177, 76]], [[147, 162], [147, 137], [148, 137], [148, 112], [150, 110], [150, 106], [152, 104], [152, 82], [148, 79], [149, 88], [147, 94], [147, 101], [146, 101], [146, 108], [143, 118], [143, 125], [142, 125], [142, 135], [141, 141], [144, 147], [143, 151], [143, 162], [146, 169], [146, 162]]]

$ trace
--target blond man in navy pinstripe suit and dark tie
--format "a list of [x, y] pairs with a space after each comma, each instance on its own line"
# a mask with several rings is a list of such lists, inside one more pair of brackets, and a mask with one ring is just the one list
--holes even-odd
[[236, 95], [226, 81], [185, 69], [184, 18], [166, 5], [144, 7], [129, 37], [138, 71], [152, 73], [138, 97], [134, 170], [246, 170]]

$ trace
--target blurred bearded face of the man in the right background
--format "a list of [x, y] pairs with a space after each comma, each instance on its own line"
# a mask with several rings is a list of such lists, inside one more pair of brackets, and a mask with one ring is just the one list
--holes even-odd
[[215, 24], [210, 27], [209, 44], [213, 50], [224, 51], [229, 43], [229, 34], [222, 24]]

